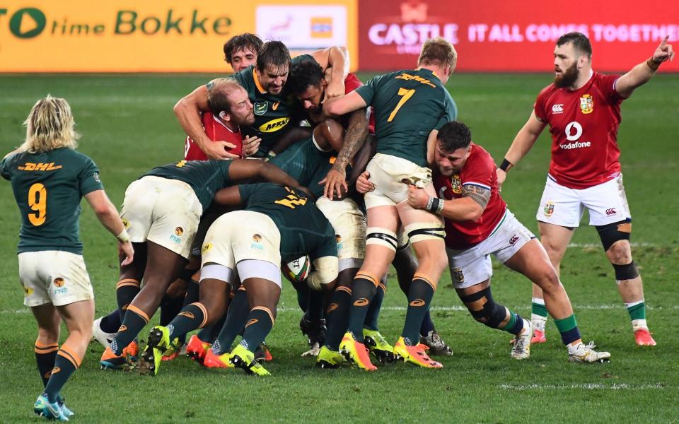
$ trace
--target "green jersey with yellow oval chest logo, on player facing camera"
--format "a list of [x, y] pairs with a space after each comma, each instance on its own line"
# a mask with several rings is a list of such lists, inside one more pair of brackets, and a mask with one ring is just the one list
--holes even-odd
[[[309, 54], [303, 54], [293, 60], [314, 60]], [[283, 86], [280, 94], [269, 94], [262, 88], [255, 66], [250, 66], [238, 73], [234, 73], [234, 78], [240, 86], [248, 92], [250, 102], [255, 107], [255, 124], [241, 128], [244, 136], [257, 136], [262, 139], [257, 156], [264, 157], [269, 153], [269, 149], [280, 136], [286, 133], [292, 126], [296, 125], [300, 117], [294, 113], [294, 98]]]

